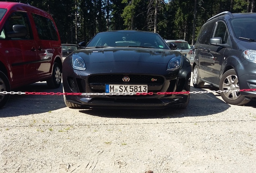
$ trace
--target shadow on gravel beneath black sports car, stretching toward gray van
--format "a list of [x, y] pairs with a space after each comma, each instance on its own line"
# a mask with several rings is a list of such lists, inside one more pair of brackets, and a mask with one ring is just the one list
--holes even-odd
[[[218, 91], [218, 88], [206, 85], [203, 89], [191, 87], [191, 91]], [[190, 101], [186, 109], [86, 109], [79, 110], [81, 113], [107, 117], [107, 118], [127, 118], [127, 119], [165, 119], [176, 117], [198, 117], [221, 113], [229, 109], [230, 105], [218, 99], [218, 93], [196, 93], [190, 94]]]

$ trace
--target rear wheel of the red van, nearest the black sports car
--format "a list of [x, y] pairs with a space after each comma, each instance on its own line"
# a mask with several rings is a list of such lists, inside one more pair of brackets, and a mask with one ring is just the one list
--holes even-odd
[[57, 62], [55, 62], [53, 70], [52, 70], [52, 77], [46, 81], [48, 87], [50, 87], [52, 89], [57, 89], [57, 88], [60, 87], [61, 73], [62, 72], [61, 72], [61, 69], [60, 69], [60, 65]]

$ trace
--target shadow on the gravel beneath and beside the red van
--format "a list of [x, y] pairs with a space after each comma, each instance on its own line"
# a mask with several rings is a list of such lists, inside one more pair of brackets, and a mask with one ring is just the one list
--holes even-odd
[[[58, 89], [50, 89], [46, 82], [37, 82], [12, 90], [14, 92], [62, 93], [62, 84]], [[54, 111], [66, 107], [62, 95], [10, 95], [8, 103], [0, 109], [0, 117], [15, 117]]]

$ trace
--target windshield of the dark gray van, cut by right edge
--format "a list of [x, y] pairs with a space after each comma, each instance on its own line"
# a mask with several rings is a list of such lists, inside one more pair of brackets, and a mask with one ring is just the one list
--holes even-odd
[[236, 38], [256, 40], [256, 17], [233, 18], [231, 27]]

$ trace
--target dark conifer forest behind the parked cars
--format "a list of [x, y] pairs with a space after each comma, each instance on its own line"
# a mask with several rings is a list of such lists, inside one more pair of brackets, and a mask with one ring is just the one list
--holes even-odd
[[255, 0], [0, 0], [21, 2], [49, 12], [62, 43], [88, 42], [107, 30], [145, 30], [164, 39], [194, 44], [201, 26], [229, 11], [254, 12]]

